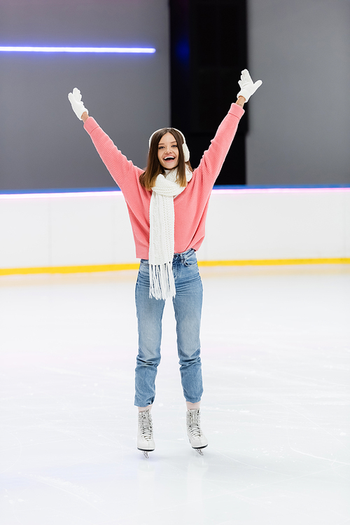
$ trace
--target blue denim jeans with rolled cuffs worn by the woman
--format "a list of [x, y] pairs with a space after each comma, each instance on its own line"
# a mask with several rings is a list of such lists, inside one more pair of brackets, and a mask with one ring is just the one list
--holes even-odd
[[[147, 407], [155, 399], [155, 376], [160, 363], [164, 299], [149, 296], [148, 261], [141, 259], [135, 299], [139, 327], [139, 355], [135, 370], [135, 405]], [[200, 318], [202, 280], [195, 250], [174, 254], [173, 273], [176, 295], [173, 299], [181, 384], [186, 401], [197, 403], [203, 393], [200, 360]]]

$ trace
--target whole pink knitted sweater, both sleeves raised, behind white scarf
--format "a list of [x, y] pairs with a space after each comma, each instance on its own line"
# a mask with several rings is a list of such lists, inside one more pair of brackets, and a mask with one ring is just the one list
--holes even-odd
[[[200, 165], [193, 171], [188, 186], [174, 198], [175, 253], [186, 252], [190, 248], [198, 250], [203, 242], [211, 189], [220, 173], [243, 114], [244, 109], [237, 104], [232, 104], [230, 111], [219, 125], [209, 149], [204, 152]], [[136, 257], [148, 259], [149, 207], [152, 192], [144, 189], [139, 183], [139, 176], [144, 170], [127, 160], [94, 118], [87, 118], [84, 128], [89, 133], [106, 168], [123, 191], [134, 233]]]

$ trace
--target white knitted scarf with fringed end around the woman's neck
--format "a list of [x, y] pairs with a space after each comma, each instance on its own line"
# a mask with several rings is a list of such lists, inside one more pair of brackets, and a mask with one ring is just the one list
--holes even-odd
[[[152, 188], [150, 204], [150, 249], [148, 263], [150, 269], [150, 297], [167, 299], [175, 296], [175, 282], [172, 271], [174, 257], [174, 197], [186, 186], [176, 182], [177, 168], [167, 177], [158, 175]], [[192, 172], [186, 167], [187, 182]]]

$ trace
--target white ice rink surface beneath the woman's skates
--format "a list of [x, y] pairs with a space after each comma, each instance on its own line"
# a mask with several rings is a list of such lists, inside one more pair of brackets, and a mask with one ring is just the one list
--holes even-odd
[[136, 448], [135, 271], [0, 278], [1, 525], [350, 524], [350, 266], [202, 268], [190, 448], [172, 304]]

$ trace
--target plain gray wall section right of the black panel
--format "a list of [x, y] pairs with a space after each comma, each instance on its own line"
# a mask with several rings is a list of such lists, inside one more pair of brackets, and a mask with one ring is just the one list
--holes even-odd
[[248, 184], [350, 184], [350, 1], [248, 0]]

